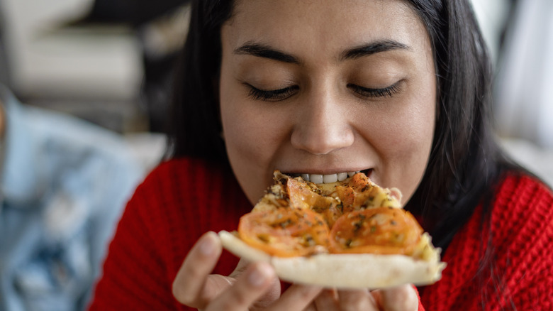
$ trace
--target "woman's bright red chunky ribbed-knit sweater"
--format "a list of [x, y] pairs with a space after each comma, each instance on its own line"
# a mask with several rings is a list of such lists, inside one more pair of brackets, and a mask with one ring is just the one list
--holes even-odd
[[[443, 254], [442, 280], [420, 289], [425, 309], [553, 310], [552, 207], [539, 181], [505, 178], [491, 222], [476, 209]], [[228, 170], [202, 160], [163, 163], [125, 209], [91, 310], [186, 310], [171, 288], [186, 253], [206, 231], [236, 229], [251, 208]], [[494, 251], [476, 274], [488, 245]], [[227, 275], [237, 262], [223, 252], [215, 273]]]

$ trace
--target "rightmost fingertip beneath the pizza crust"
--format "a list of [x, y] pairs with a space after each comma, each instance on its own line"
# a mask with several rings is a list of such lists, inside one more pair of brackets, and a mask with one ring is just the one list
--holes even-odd
[[374, 298], [384, 311], [416, 311], [418, 295], [413, 285], [401, 285], [395, 288], [375, 290]]

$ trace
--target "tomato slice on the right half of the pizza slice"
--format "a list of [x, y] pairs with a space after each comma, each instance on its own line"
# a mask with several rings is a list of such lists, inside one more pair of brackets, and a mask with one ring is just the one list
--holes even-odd
[[393, 207], [342, 215], [330, 231], [330, 253], [410, 255], [423, 229], [410, 212]]

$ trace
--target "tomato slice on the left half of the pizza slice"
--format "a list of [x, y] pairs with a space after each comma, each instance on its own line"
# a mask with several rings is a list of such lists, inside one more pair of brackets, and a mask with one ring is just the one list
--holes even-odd
[[320, 253], [328, 246], [329, 233], [328, 225], [319, 214], [291, 207], [250, 212], [238, 224], [242, 241], [280, 257]]

